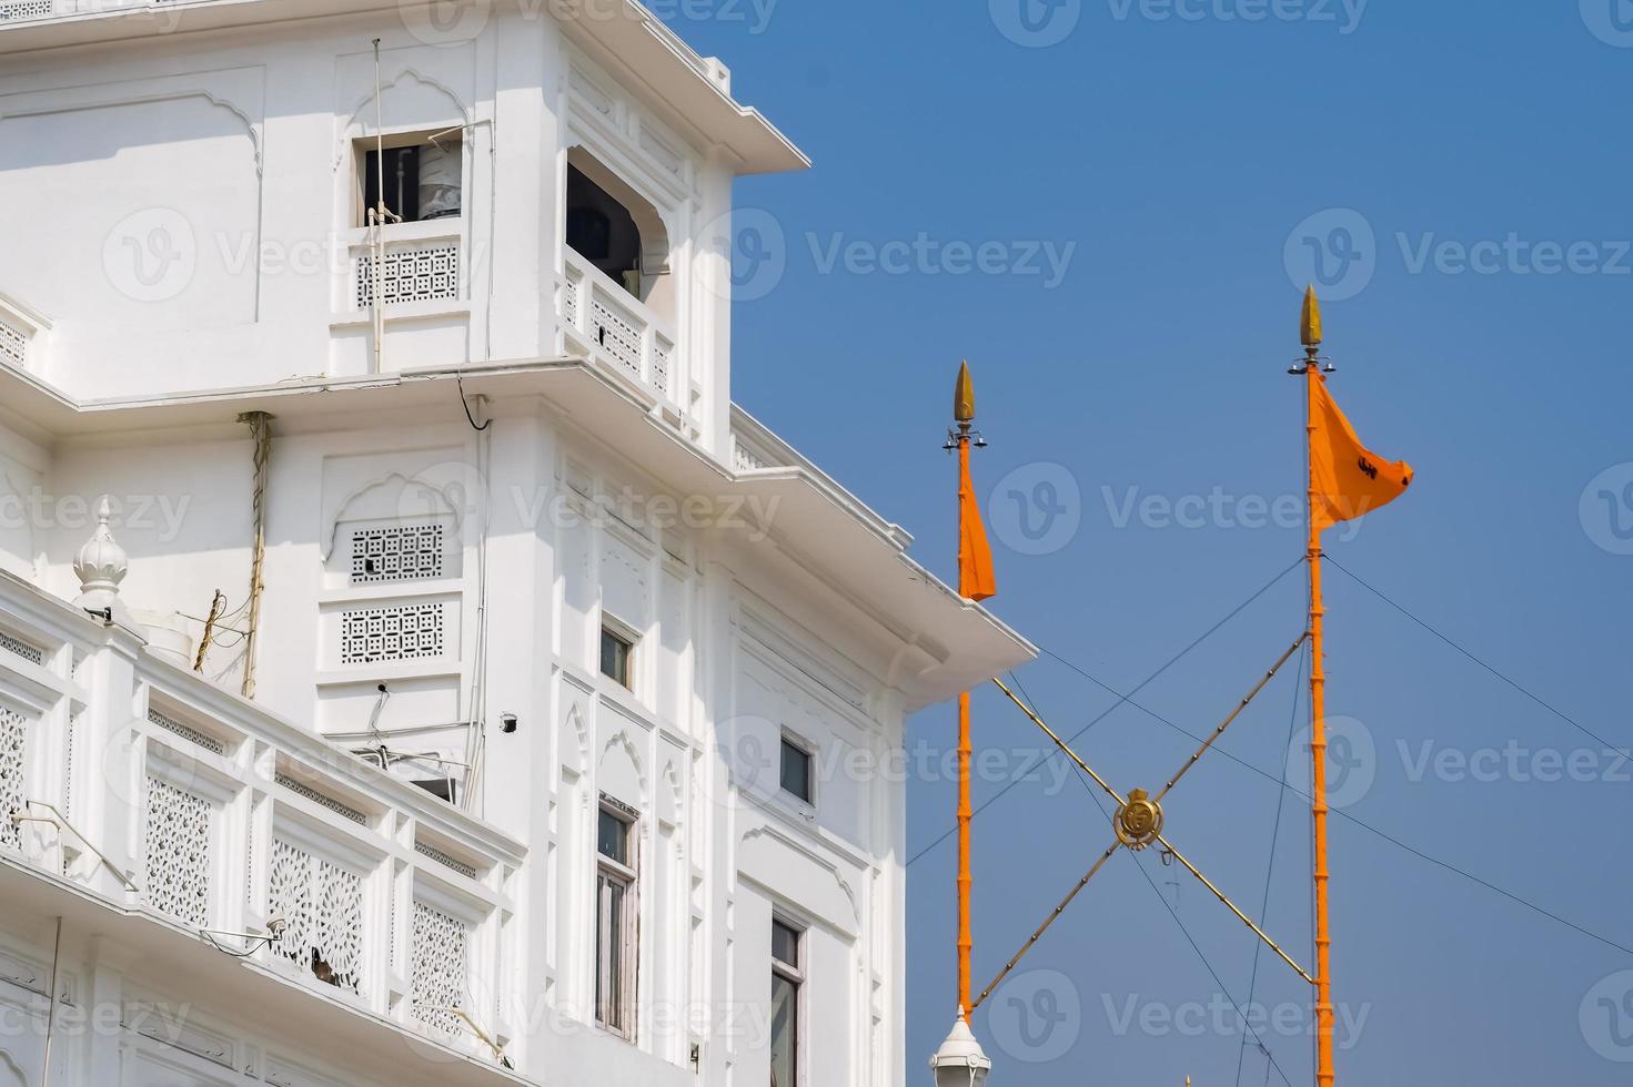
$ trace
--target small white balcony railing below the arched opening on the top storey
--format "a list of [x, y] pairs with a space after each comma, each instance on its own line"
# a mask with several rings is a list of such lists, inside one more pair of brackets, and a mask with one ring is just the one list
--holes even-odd
[[562, 325], [573, 343], [614, 374], [679, 403], [674, 393], [674, 330], [573, 250], [567, 250]]

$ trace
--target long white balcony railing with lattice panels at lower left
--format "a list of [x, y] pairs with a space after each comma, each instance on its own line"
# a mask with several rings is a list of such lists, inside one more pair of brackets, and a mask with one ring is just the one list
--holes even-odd
[[0, 573], [0, 865], [496, 1063], [523, 854]]

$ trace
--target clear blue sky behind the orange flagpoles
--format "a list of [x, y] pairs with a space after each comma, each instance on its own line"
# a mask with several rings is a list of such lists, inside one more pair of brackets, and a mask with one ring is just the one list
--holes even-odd
[[[671, 5], [816, 163], [738, 184], [740, 248], [771, 260], [745, 268], [736, 397], [952, 576], [941, 441], [968, 357], [993, 606], [1127, 692], [1302, 552], [1285, 370], [1318, 279], [1339, 403], [1417, 468], [1329, 553], [1553, 707], [1329, 570], [1344, 813], [1633, 947], [1633, 767], [1604, 749], [1633, 743], [1633, 10], [1612, 3]], [[1303, 609], [1295, 570], [1145, 687], [1151, 713], [1119, 707], [1079, 751], [1159, 787], [1194, 744], [1153, 713], [1210, 731]], [[1208, 756], [1168, 803], [1174, 842], [1254, 914], [1308, 713], [1293, 669], [1221, 741], [1239, 762]], [[1114, 703], [1057, 659], [1021, 682], [1068, 733]], [[991, 692], [977, 710], [1001, 752], [981, 801], [1039, 748]], [[926, 712], [910, 748], [941, 752], [952, 728]], [[1303, 788], [1305, 762], [1288, 772]], [[950, 826], [952, 790], [911, 782], [910, 854]], [[978, 986], [1107, 841], [1052, 772], [978, 816]], [[952, 862], [949, 841], [908, 868], [914, 1076], [952, 1010]], [[1333, 867], [1341, 1082], [1626, 1082], [1633, 955], [1347, 818]], [[1302, 961], [1308, 870], [1288, 795], [1266, 927]], [[1253, 935], [1200, 885], [1119, 855], [977, 1018], [993, 1082], [1205, 1087], [1236, 1082], [1239, 1056], [1239, 1082], [1311, 1082], [1308, 987], [1269, 955], [1253, 969]], [[1249, 991], [1274, 1067], [1225, 1010]]]

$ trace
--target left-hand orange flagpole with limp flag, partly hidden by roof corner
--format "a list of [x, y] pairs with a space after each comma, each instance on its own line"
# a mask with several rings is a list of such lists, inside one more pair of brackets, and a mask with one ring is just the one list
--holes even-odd
[[[986, 526], [981, 524], [981, 503], [970, 477], [970, 446], [975, 441], [975, 390], [970, 384], [970, 364], [959, 367], [959, 384], [952, 395], [952, 415], [957, 429], [950, 434], [959, 447], [959, 594], [970, 601], [985, 601], [998, 592], [993, 576], [993, 548], [986, 542]], [[970, 1010], [970, 955], [975, 937], [970, 927], [970, 891], [975, 876], [970, 872], [970, 821], [975, 808], [970, 803], [970, 761], [975, 748], [970, 741], [970, 694], [959, 695], [959, 1007]]]

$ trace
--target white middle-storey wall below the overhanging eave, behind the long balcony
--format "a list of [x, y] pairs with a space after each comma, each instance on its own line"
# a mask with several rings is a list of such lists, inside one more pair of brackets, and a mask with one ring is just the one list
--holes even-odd
[[[593, 836], [607, 795], [642, 813], [635, 1051], [686, 1067], [696, 1043], [707, 1082], [725, 1082], [727, 1067], [758, 1082], [764, 1032], [715, 1033], [725, 1030], [715, 1018], [753, 1027], [763, 1014], [777, 907], [810, 925], [807, 1036], [821, 1041], [808, 1049], [820, 1063], [810, 1082], [888, 1082], [890, 1032], [870, 1020], [883, 999], [874, 989], [893, 1000], [900, 984], [903, 785], [872, 772], [901, 744], [883, 664], [865, 666], [867, 648], [846, 645], [831, 601], [740, 566], [728, 534], [621, 519], [630, 509], [621, 496], [656, 488], [604, 436], [578, 433], [542, 402], [478, 408], [493, 418], [482, 433], [456, 406], [346, 429], [274, 423], [256, 700], [323, 734], [358, 733], [384, 681], [384, 730], [449, 726], [392, 739], [394, 749], [464, 757], [467, 733], [452, 726], [472, 715], [485, 596], [477, 811], [531, 850], [513, 1053], [558, 1059], [578, 1045], [527, 1036], [541, 1005], [593, 1017]], [[242, 428], [75, 439], [39, 478], [87, 508], [103, 493], [119, 501], [113, 530], [131, 555], [122, 599], [147, 622], [193, 617], [178, 623], [196, 638], [217, 588], [229, 610], [245, 599], [251, 452]], [[353, 530], [431, 522], [447, 542], [443, 578], [351, 583]], [[59, 596], [77, 591], [72, 560], [88, 534], [85, 519], [34, 534], [42, 581]], [[336, 612], [425, 601], [447, 609], [441, 656], [340, 661]], [[632, 690], [598, 671], [604, 615], [639, 637]], [[237, 690], [242, 645], [217, 638], [206, 674]], [[501, 713], [516, 715], [514, 733], [498, 730]], [[779, 788], [784, 731], [815, 752], [815, 805]], [[699, 1020], [699, 1009], [714, 1010]]]

